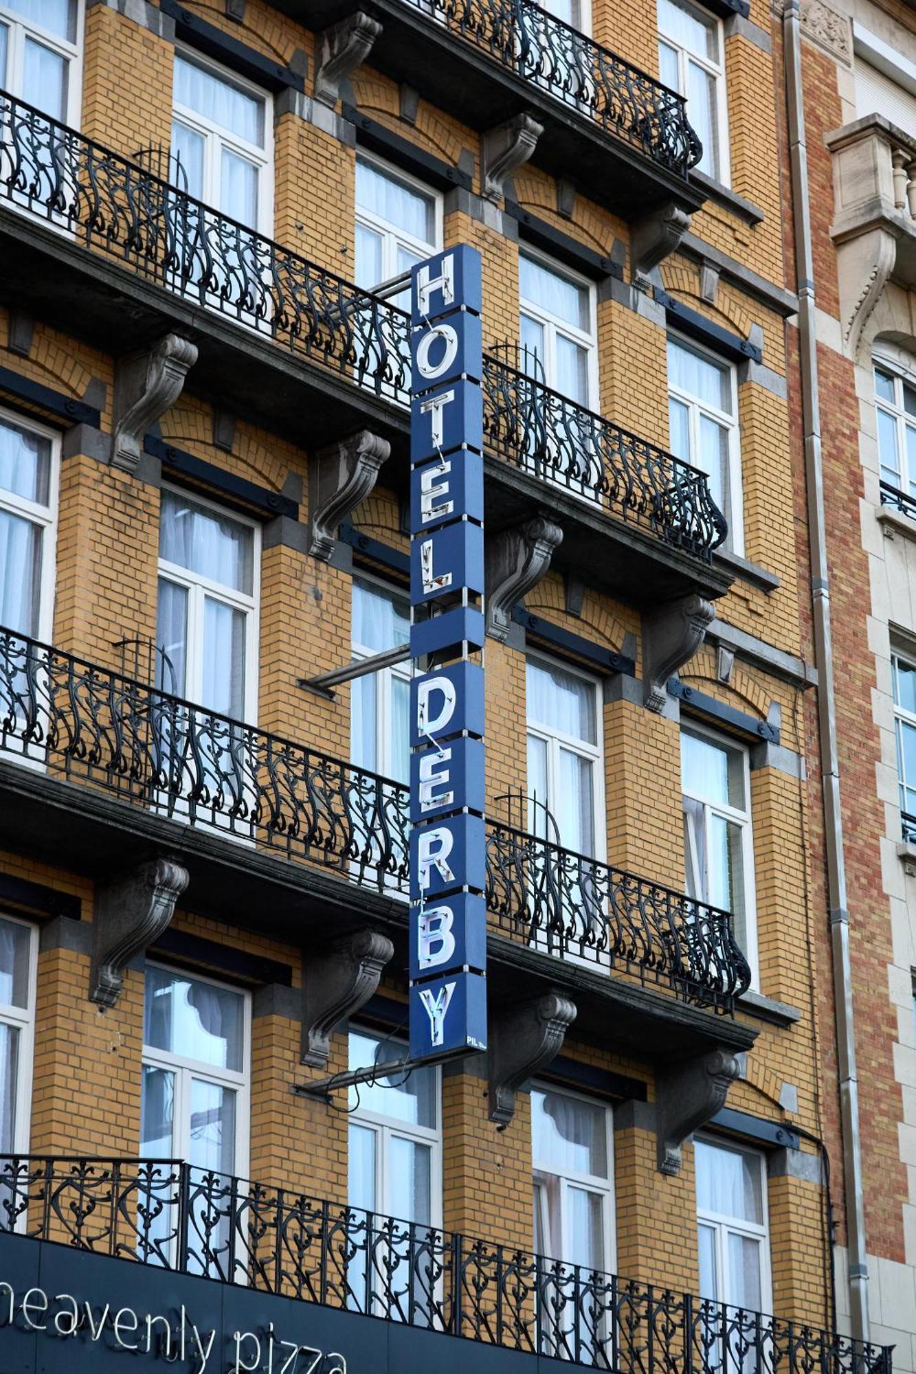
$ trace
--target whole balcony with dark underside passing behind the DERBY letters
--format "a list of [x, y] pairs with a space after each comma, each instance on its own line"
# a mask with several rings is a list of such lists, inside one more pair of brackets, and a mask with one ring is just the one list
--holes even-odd
[[[99, 874], [116, 852], [128, 866], [172, 849], [204, 915], [270, 910], [298, 941], [375, 919], [406, 945], [406, 787], [10, 631], [0, 794], [7, 848]], [[494, 819], [487, 908], [491, 980], [575, 987], [578, 1029], [607, 1035], [618, 999], [641, 1058], [670, 1048], [671, 1024], [685, 1051], [752, 1043], [728, 1024], [750, 982], [728, 912]]]

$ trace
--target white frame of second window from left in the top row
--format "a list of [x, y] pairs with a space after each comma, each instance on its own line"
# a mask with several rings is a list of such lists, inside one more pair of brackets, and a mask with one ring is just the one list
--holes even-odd
[[213, 120], [208, 120], [205, 115], [199, 114], [197, 110], [191, 110], [188, 106], [179, 104], [179, 102], [172, 99], [172, 118], [179, 124], [186, 124], [188, 128], [194, 129], [204, 137], [204, 194], [201, 201], [208, 209], [213, 210], [216, 214], [223, 214], [220, 207], [220, 148], [223, 144], [238, 157], [245, 158], [248, 162], [253, 162], [257, 168], [257, 223], [246, 224], [246, 229], [252, 229], [254, 234], [263, 234], [267, 238], [274, 236], [274, 96], [264, 87], [256, 85], [253, 81], [246, 81], [245, 77], [239, 77], [230, 67], [221, 66], [219, 62], [213, 62], [210, 58], [202, 56], [195, 48], [188, 48], [183, 44], [176, 44], [175, 48], [176, 58], [182, 58], [191, 66], [199, 67], [204, 71], [209, 71], [210, 76], [216, 77], [219, 81], [224, 81], [227, 85], [235, 87], [238, 91], [243, 91], [246, 95], [253, 96], [263, 102], [264, 106], [264, 147], [259, 148], [254, 143], [248, 143], [241, 139], [237, 133], [230, 129], [223, 128], [223, 125], [216, 124]]

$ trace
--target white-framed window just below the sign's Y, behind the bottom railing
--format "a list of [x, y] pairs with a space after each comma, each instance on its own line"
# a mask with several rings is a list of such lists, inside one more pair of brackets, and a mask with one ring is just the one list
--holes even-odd
[[[349, 1033], [351, 1070], [386, 1063], [404, 1052], [406, 1046], [389, 1036], [371, 1030]], [[406, 1316], [406, 1308], [392, 1304], [392, 1294], [410, 1292], [415, 1312], [426, 1311], [432, 1323], [428, 1274], [436, 1265], [436, 1254], [422, 1250], [430, 1241], [429, 1231], [422, 1228], [441, 1224], [440, 1094], [436, 1066], [414, 1069], [407, 1076], [395, 1073], [349, 1090], [347, 1198], [352, 1208], [378, 1213], [371, 1221], [374, 1234], [367, 1237], [371, 1263], [367, 1265], [360, 1250], [347, 1272], [356, 1305], [367, 1312]], [[413, 1223], [413, 1228], [386, 1231], [385, 1217]], [[421, 1248], [415, 1256], [411, 1256], [411, 1237]]]

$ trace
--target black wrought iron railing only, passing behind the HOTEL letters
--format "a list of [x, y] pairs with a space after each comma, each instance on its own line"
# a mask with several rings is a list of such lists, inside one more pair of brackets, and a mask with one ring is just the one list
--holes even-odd
[[[408, 403], [403, 311], [4, 95], [0, 196], [168, 291]], [[488, 447], [516, 467], [697, 558], [708, 559], [725, 539], [704, 473], [494, 356], [484, 405]]]

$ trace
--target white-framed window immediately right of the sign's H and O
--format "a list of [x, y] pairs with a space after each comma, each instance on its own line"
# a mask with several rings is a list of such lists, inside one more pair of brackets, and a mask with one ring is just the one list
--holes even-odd
[[521, 371], [594, 409], [594, 287], [531, 253], [519, 256]]

